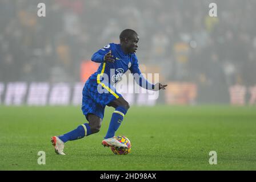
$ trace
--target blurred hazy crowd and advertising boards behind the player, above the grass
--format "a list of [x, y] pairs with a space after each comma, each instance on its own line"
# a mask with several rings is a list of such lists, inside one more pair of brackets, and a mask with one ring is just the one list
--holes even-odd
[[[46, 17], [37, 16], [40, 2]], [[91, 55], [132, 28], [141, 71], [169, 86], [157, 101], [131, 96], [131, 104], [253, 105], [255, 9], [253, 0], [1, 0], [0, 104], [80, 105], [98, 67]]]

